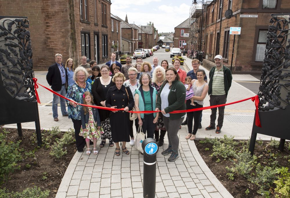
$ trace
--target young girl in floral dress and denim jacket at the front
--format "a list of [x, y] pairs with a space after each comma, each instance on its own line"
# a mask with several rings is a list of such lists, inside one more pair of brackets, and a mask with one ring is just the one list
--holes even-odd
[[[93, 104], [93, 96], [88, 91], [84, 92], [83, 104], [96, 106]], [[81, 108], [81, 126], [79, 135], [86, 138], [87, 155], [90, 155], [90, 140], [92, 139], [94, 146], [93, 151], [94, 154], [97, 155], [97, 138], [100, 137], [101, 133], [104, 133], [104, 130], [101, 128], [101, 120], [98, 109], [83, 106], [83, 108]]]

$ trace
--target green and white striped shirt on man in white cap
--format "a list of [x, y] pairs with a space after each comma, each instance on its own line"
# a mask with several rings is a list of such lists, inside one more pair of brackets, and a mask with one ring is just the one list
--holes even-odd
[[213, 74], [213, 85], [212, 85], [213, 91], [211, 95], [224, 95], [226, 92], [224, 91], [224, 68], [222, 67], [220, 70], [218, 70], [215, 67], [215, 72]]

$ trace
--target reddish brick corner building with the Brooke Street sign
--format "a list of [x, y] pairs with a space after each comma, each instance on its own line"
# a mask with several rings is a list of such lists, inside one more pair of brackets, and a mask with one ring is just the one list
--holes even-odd
[[[289, 0], [217, 0], [205, 1], [202, 7], [196, 7], [191, 12], [190, 44], [196, 51], [199, 50], [199, 33], [202, 30], [201, 51], [204, 50], [204, 58], [213, 59], [220, 54], [223, 64], [230, 66], [234, 35], [229, 34], [229, 30], [230, 27], [241, 27], [241, 34], [235, 36], [233, 52], [233, 72], [236, 73], [261, 72], [271, 13], [290, 12]], [[233, 16], [228, 19], [225, 12], [229, 9]]]

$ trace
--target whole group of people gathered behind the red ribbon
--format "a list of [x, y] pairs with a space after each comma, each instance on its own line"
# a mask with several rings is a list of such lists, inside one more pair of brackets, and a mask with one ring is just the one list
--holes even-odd
[[[126, 142], [130, 142], [131, 146], [134, 145], [134, 121], [130, 120], [128, 111], [135, 107], [135, 111], [157, 111], [137, 113], [136, 131], [141, 126], [146, 137], [155, 138], [159, 146], [163, 145], [167, 131], [168, 148], [162, 154], [171, 153], [168, 160], [175, 161], [179, 157], [177, 133], [185, 113], [170, 112], [202, 107], [207, 93], [210, 94], [211, 105], [225, 103], [231, 86], [231, 73], [222, 66], [220, 55], [215, 57], [216, 66], [210, 71], [209, 85], [205, 71], [199, 69], [197, 59], [192, 61], [193, 70], [186, 74], [180, 68], [179, 59], [175, 59], [173, 67], [168, 68], [168, 61], [163, 60], [160, 66], [157, 57], [153, 58], [152, 65], [148, 62], [143, 63], [139, 58], [135, 64], [131, 64], [129, 56], [126, 57], [126, 64], [121, 65], [115, 58], [116, 54], [112, 53], [111, 60], [99, 68], [96, 61], [90, 61], [88, 64], [86, 57], [81, 57], [82, 64], [75, 69], [72, 59], [68, 59], [64, 66], [62, 55], [56, 54], [56, 63], [49, 67], [46, 76], [52, 90], [67, 98], [68, 111], [65, 99], [54, 94], [52, 105], [54, 120], [58, 121], [57, 103], [60, 98], [62, 115], [68, 116], [73, 121], [77, 150], [83, 152], [86, 144], [88, 155], [91, 153], [91, 141], [92, 152], [95, 155], [98, 153], [96, 142], [99, 137], [102, 139], [100, 147], [104, 147], [107, 140], [110, 147], [116, 144], [115, 155], [119, 156], [121, 149], [126, 155], [130, 153], [126, 148]], [[224, 88], [221, 83], [224, 84]], [[122, 110], [107, 110], [105, 107]], [[189, 134], [186, 139], [195, 139], [201, 117], [201, 110], [187, 112], [186, 123]], [[212, 110], [211, 123], [206, 130], [215, 128], [215, 117], [216, 109]], [[222, 127], [222, 119], [223, 112], [219, 108], [216, 132]]]

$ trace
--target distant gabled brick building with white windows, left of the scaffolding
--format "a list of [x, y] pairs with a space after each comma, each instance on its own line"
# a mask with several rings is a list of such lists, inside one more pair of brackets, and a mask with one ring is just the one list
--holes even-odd
[[[187, 51], [187, 44], [189, 41], [189, 18], [180, 23], [174, 28], [174, 47]], [[183, 45], [186, 43], [186, 45]]]

